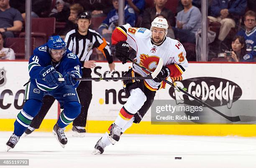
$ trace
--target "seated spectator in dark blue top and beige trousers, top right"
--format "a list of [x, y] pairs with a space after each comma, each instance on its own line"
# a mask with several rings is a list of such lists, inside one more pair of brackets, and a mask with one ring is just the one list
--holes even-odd
[[235, 28], [236, 23], [246, 10], [246, 5], [246, 0], [212, 0], [211, 15], [208, 18], [210, 23], [219, 22], [221, 24], [216, 42], [218, 48], [227, 37], [230, 29]]

